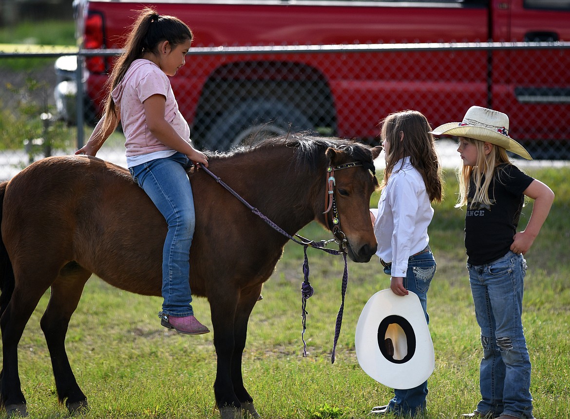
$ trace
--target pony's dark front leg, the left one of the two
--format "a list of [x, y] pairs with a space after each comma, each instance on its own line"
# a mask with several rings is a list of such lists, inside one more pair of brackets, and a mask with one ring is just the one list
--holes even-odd
[[231, 362], [234, 353], [234, 318], [237, 299], [210, 296], [210, 311], [214, 328], [214, 347], [218, 365], [214, 381], [214, 396], [222, 419], [241, 419], [241, 402], [234, 392]]

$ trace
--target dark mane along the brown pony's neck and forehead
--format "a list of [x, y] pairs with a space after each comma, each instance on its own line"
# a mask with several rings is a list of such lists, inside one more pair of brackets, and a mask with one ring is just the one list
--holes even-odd
[[270, 137], [252, 145], [240, 145], [239, 147], [227, 152], [215, 152], [209, 154], [210, 156], [215, 157], [230, 158], [275, 147], [291, 147], [298, 149], [298, 152], [295, 153], [295, 163], [297, 165], [309, 165], [311, 168], [316, 168], [319, 164], [322, 152], [331, 147], [347, 153], [352, 157], [353, 161], [361, 162], [364, 168], [370, 170], [373, 174], [376, 173], [374, 162], [372, 161], [372, 152], [367, 146], [358, 143], [355, 140], [344, 140], [336, 137], [288, 134], [284, 136]]

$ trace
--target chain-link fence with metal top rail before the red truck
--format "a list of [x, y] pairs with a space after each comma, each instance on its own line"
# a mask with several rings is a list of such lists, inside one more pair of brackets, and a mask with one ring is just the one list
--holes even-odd
[[[119, 53], [0, 52], [0, 179], [84, 144]], [[417, 109], [435, 127], [477, 104], [507, 113], [535, 158], [570, 156], [569, 42], [193, 48], [171, 82], [198, 148], [294, 131], [374, 144], [390, 112]], [[125, 165], [123, 142], [118, 130], [99, 156]]]

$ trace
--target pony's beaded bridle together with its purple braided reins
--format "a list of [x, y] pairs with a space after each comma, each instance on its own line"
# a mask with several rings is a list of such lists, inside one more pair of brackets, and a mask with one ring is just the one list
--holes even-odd
[[[306, 311], [307, 299], [310, 298], [314, 294], [314, 289], [311, 286], [311, 283], [309, 282], [309, 259], [307, 257], [307, 248], [313, 247], [314, 249], [323, 250], [323, 251], [325, 251], [331, 255], [340, 255], [340, 254], [343, 255], [344, 273], [343, 273], [343, 283], [342, 283], [342, 287], [341, 287], [342, 299], [341, 299], [341, 304], [340, 304], [340, 308], [339, 308], [339, 313], [336, 316], [335, 340], [333, 343], [332, 354], [331, 354], [331, 363], [332, 364], [335, 363], [336, 343], [339, 340], [340, 328], [341, 328], [341, 325], [343, 323], [344, 297], [345, 297], [345, 294], [347, 291], [347, 284], [348, 284], [348, 261], [347, 261], [347, 242], [348, 241], [347, 241], [346, 235], [340, 229], [340, 217], [339, 217], [339, 213], [336, 209], [336, 198], [335, 198], [335, 190], [334, 190], [334, 188], [336, 186], [336, 180], [335, 180], [334, 174], [335, 174], [335, 170], [355, 168], [355, 167], [359, 167], [362, 165], [363, 164], [361, 162], [353, 161], [353, 162], [341, 164], [341, 165], [336, 166], [336, 167], [335, 166], [328, 166], [327, 173], [329, 174], [329, 176], [327, 178], [327, 196], [325, 197], [325, 208], [326, 209], [325, 209], [323, 214], [327, 214], [332, 209], [332, 216], [333, 216], [333, 218], [332, 218], [332, 223], [333, 223], [332, 234], [333, 234], [333, 237], [335, 237], [335, 238], [331, 239], [331, 240], [321, 240], [321, 241], [315, 242], [313, 240], [306, 239], [299, 234], [295, 234], [295, 237], [298, 237], [299, 239], [292, 237], [290, 234], [287, 233], [287, 231], [283, 230], [281, 227], [276, 225], [273, 221], [271, 221], [269, 218], [267, 218], [261, 211], [259, 211], [257, 208], [255, 208], [254, 206], [249, 204], [249, 202], [247, 202], [241, 196], [239, 196], [239, 194], [237, 192], [235, 192], [233, 189], [231, 189], [230, 186], [228, 186], [218, 176], [216, 176], [214, 173], [212, 173], [208, 168], [206, 168], [205, 166], [200, 164], [200, 168], [202, 168], [207, 174], [209, 174], [212, 178], [214, 178], [214, 180], [216, 182], [218, 182], [218, 184], [222, 185], [223, 188], [225, 188], [228, 192], [230, 192], [234, 197], [238, 198], [238, 200], [241, 201], [243, 205], [247, 206], [247, 208], [249, 208], [251, 210], [251, 212], [258, 215], [259, 218], [261, 218], [264, 222], [266, 222], [274, 230], [278, 231], [279, 233], [283, 234], [288, 239], [290, 239], [290, 240], [294, 241], [295, 243], [302, 245], [304, 247], [304, 261], [303, 261], [304, 279], [303, 279], [303, 284], [301, 286], [301, 294], [302, 294], [301, 310], [302, 310], [302, 316], [303, 316], [303, 320], [302, 320], [303, 332], [301, 333], [301, 340], [303, 340], [303, 356], [304, 357], [307, 356], [307, 343], [304, 339], [304, 335], [305, 335], [305, 332], [307, 329], [307, 327], [306, 327], [307, 314], [308, 314], [308, 312]], [[326, 217], [327, 217], [327, 225], [329, 225], [328, 215]], [[325, 247], [328, 245], [328, 243], [333, 242], [333, 241], [339, 245], [339, 250], [327, 249]]]

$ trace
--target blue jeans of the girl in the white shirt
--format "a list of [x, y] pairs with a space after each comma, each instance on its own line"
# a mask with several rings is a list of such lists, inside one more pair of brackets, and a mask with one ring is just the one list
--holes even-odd
[[[404, 279], [404, 287], [412, 291], [420, 298], [426, 322], [429, 324], [427, 315], [427, 290], [431, 279], [435, 274], [435, 259], [431, 251], [412, 256], [408, 259], [408, 271]], [[398, 390], [394, 389], [394, 398], [388, 403], [388, 410], [398, 415], [410, 415], [424, 412], [426, 408], [427, 381], [418, 387]]]

